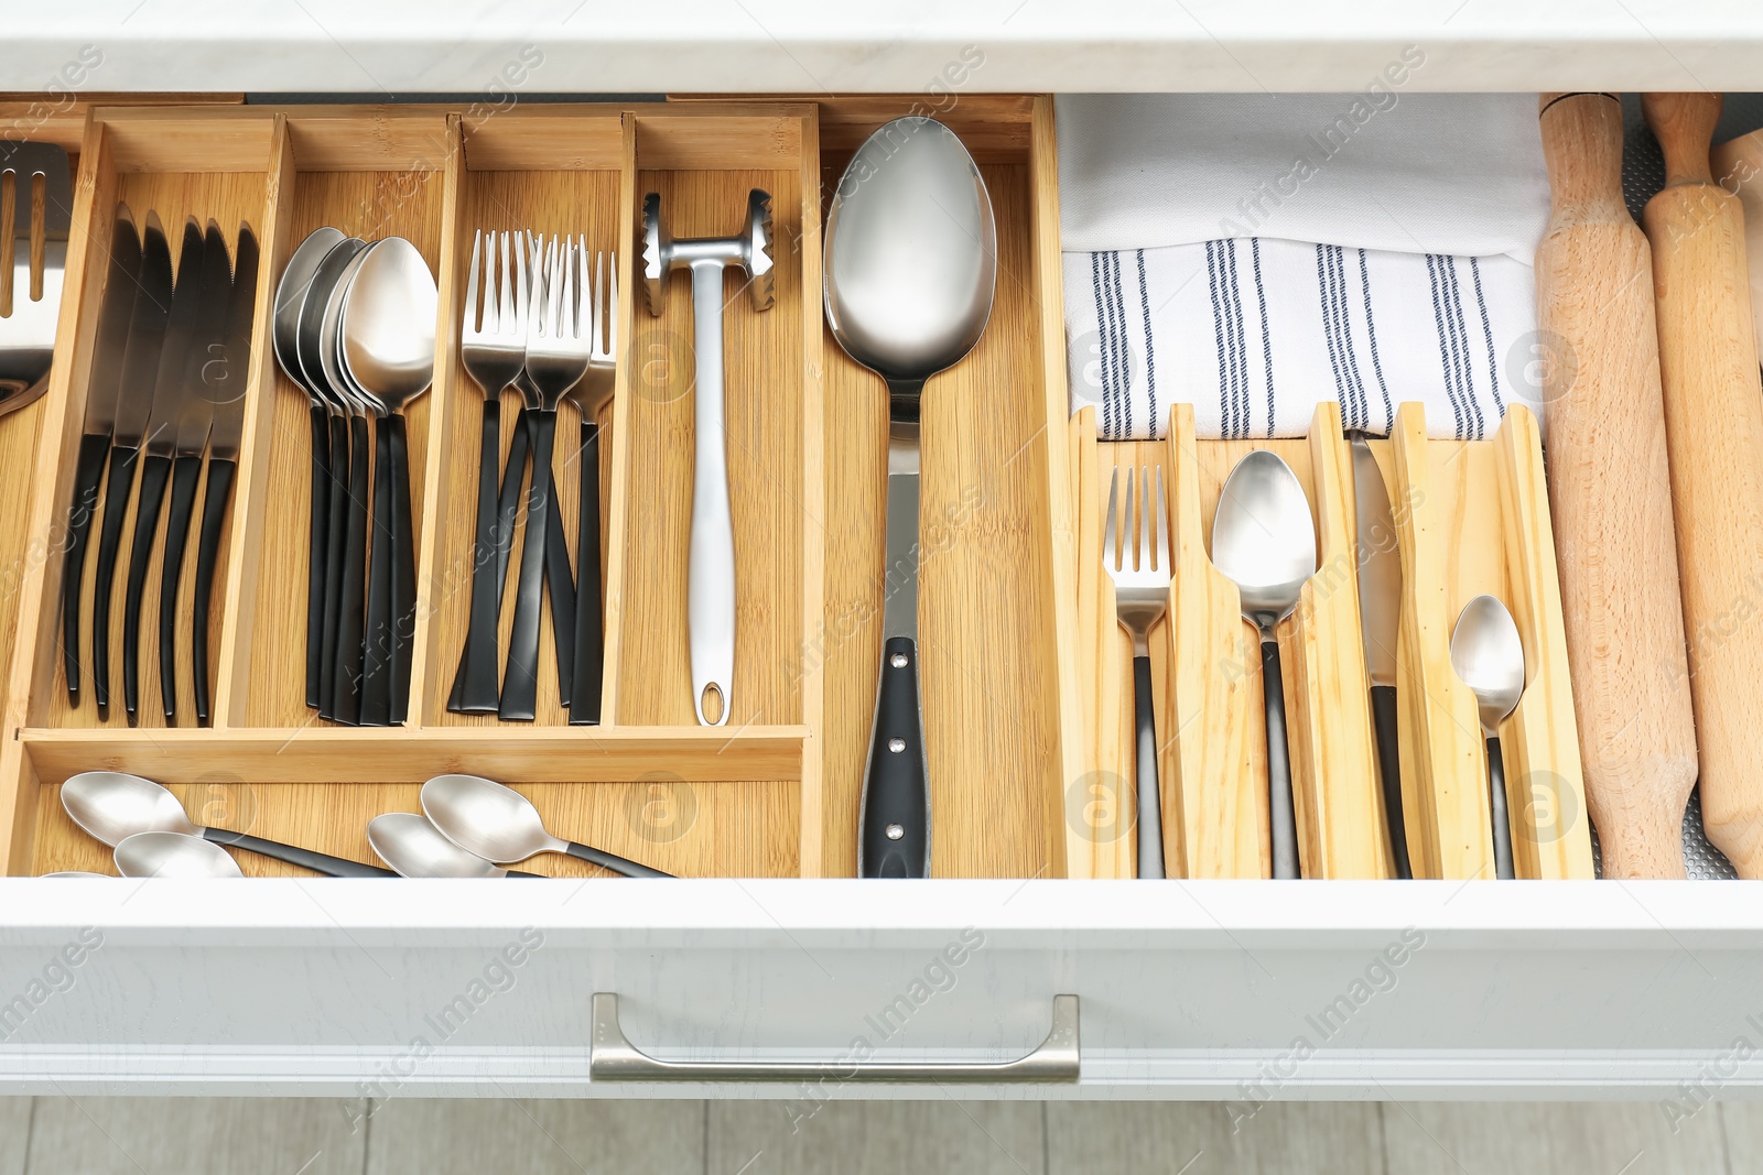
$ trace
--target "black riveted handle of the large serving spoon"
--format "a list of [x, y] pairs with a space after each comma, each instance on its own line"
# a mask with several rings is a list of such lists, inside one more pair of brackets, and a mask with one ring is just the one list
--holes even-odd
[[919, 708], [919, 647], [910, 636], [890, 636], [882, 645], [857, 876], [931, 876], [931, 786]]

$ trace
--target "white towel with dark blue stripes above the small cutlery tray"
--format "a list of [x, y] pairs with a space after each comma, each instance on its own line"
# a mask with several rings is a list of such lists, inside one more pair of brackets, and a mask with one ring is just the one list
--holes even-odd
[[1426, 405], [1433, 437], [1541, 416], [1536, 278], [1509, 255], [1449, 257], [1271, 238], [1065, 254], [1072, 412], [1105, 440], [1155, 439], [1169, 405], [1201, 437], [1303, 437], [1333, 400], [1387, 433]]

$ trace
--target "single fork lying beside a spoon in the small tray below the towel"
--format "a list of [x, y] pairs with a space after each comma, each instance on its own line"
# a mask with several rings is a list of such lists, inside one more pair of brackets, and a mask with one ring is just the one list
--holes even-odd
[[[1169, 509], [1162, 467], [1116, 467], [1107, 486], [1102, 565], [1114, 581], [1114, 613], [1132, 636], [1132, 708], [1137, 740], [1139, 876], [1164, 876], [1162, 796], [1157, 784], [1157, 719], [1151, 710], [1151, 625], [1169, 608]], [[1142, 483], [1142, 490], [1137, 490]], [[1155, 484], [1153, 484], [1155, 483]], [[1155, 504], [1155, 520], [1153, 520]]]

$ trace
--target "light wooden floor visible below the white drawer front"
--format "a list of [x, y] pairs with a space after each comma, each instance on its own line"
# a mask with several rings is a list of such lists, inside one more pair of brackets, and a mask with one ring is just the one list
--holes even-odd
[[0, 1175], [1742, 1175], [1763, 1105], [0, 1097]]

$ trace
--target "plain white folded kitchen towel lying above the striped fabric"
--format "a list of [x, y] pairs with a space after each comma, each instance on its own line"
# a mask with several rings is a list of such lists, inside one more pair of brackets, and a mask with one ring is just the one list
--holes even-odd
[[1070, 252], [1218, 238], [1530, 264], [1548, 222], [1534, 93], [1405, 93], [1403, 51], [1358, 93], [1056, 99]]

